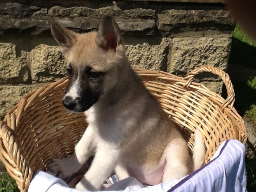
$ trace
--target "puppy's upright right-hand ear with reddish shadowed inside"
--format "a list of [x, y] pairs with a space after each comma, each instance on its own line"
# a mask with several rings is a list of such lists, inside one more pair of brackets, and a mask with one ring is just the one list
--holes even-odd
[[123, 43], [120, 29], [110, 15], [104, 15], [100, 19], [99, 30], [95, 42], [106, 50], [116, 50], [119, 44]]

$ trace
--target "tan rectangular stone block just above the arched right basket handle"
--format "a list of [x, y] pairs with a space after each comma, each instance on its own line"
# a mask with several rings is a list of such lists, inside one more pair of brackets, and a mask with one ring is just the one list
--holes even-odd
[[173, 38], [167, 71], [179, 76], [198, 66], [210, 65], [225, 70], [231, 38]]

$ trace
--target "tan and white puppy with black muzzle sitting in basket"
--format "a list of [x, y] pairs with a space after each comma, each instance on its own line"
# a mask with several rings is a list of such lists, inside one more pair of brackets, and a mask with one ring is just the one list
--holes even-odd
[[75, 33], [55, 21], [50, 21], [50, 29], [67, 61], [69, 81], [63, 105], [69, 111], [84, 112], [88, 127], [73, 155], [54, 159], [48, 171], [69, 178], [95, 155], [75, 188], [96, 191], [113, 171], [120, 179], [134, 176], [156, 185], [202, 166], [205, 152], [200, 131], [195, 133], [191, 157], [178, 126], [131, 68], [112, 16], [100, 19], [97, 32]]

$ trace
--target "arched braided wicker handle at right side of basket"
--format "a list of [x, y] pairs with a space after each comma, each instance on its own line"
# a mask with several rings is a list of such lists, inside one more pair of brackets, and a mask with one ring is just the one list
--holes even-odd
[[220, 76], [227, 88], [228, 97], [227, 97], [227, 99], [225, 99], [225, 102], [223, 102], [223, 104], [221, 105], [221, 110], [223, 111], [228, 105], [233, 107], [234, 102], [235, 102], [234, 86], [231, 83], [231, 80], [230, 80], [228, 74], [220, 69], [217, 69], [215, 67], [208, 66], [208, 65], [197, 67], [197, 68], [193, 69], [192, 71], [190, 71], [189, 73], [187, 73], [186, 77], [183, 78], [183, 80], [187, 80], [185, 82], [185, 84], [183, 85], [183, 87], [186, 87], [186, 88], [189, 87], [190, 84], [192, 83], [193, 78], [197, 74], [203, 73], [203, 72], [210, 72], [210, 73]]

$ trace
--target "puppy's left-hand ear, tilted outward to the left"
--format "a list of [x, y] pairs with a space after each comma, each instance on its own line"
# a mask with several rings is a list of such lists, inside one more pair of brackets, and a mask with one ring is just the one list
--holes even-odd
[[59, 44], [60, 50], [65, 54], [76, 42], [76, 33], [59, 25], [53, 19], [49, 20], [54, 39]]

